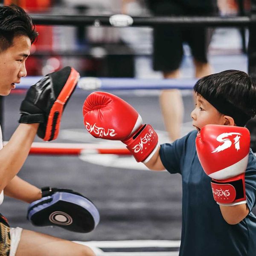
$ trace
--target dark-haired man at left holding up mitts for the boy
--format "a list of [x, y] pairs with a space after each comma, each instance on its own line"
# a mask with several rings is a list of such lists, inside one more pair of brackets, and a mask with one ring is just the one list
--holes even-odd
[[[11, 90], [15, 89], [15, 84], [26, 76], [26, 59], [30, 54], [31, 44], [36, 38], [35, 26], [23, 9], [17, 6], [0, 7], [0, 95], [9, 95]], [[72, 74], [76, 75], [76, 72], [72, 73], [72, 70], [68, 70], [70, 69], [63, 69], [61, 76], [57, 79], [55, 77], [57, 72], [52, 73], [29, 88], [20, 107], [20, 125], [5, 147], [3, 147], [0, 130], [0, 204], [3, 202], [3, 191], [6, 195], [27, 203], [42, 198], [41, 189], [16, 175], [29, 154], [36, 134], [44, 138], [49, 135], [47, 140], [57, 136], [56, 133], [47, 134], [46, 124], [50, 124], [52, 120], [46, 110], [48, 106], [55, 106], [55, 93], [58, 89], [62, 88], [61, 93], [67, 98], [69, 95], [63, 89], [69, 89], [68, 92], [73, 91], [74, 87], [71, 86], [75, 84], [71, 82], [72, 79], [71, 81], [69, 79]], [[68, 78], [67, 81], [66, 78]], [[56, 116], [56, 119], [60, 122], [59, 116]], [[52, 128], [51, 131], [56, 132], [58, 125], [58, 122], [56, 125], [53, 123], [52, 126], [49, 125]], [[22, 230], [19, 227], [10, 229], [8, 221], [1, 214], [0, 231], [0, 255], [95, 256], [90, 248], [71, 241]]]

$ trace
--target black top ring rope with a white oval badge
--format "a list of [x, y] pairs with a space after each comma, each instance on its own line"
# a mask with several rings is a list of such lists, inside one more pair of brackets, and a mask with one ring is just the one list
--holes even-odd
[[249, 16], [219, 17], [219, 16], [176, 16], [176, 17], [154, 17], [154, 16], [129, 16], [129, 15], [42, 15], [31, 14], [32, 20], [41, 25], [71, 25], [71, 26], [249, 26], [255, 24], [256, 20]]

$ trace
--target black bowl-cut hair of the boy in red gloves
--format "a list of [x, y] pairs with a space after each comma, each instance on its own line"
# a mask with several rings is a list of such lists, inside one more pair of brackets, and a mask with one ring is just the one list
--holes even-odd
[[205, 76], [197, 81], [194, 91], [220, 113], [233, 117], [236, 125], [244, 126], [256, 115], [256, 84], [243, 71], [225, 70]]

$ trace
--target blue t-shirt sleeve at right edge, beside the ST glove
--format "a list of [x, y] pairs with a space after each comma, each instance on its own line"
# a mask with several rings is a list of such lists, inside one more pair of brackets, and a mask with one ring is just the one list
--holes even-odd
[[249, 160], [245, 172], [245, 191], [249, 210], [255, 206], [256, 199], [256, 157], [250, 149]]

